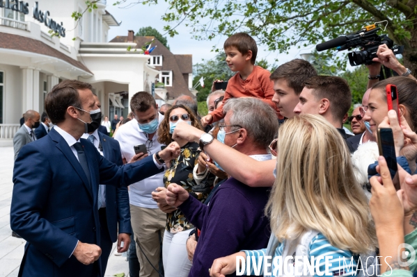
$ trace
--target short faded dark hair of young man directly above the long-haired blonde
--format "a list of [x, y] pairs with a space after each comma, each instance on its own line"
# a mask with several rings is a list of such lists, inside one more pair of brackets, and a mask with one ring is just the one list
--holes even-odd
[[352, 104], [352, 93], [344, 78], [336, 76], [314, 76], [309, 78], [304, 87], [313, 89], [316, 99], [329, 99], [329, 110], [335, 120], [343, 121]]

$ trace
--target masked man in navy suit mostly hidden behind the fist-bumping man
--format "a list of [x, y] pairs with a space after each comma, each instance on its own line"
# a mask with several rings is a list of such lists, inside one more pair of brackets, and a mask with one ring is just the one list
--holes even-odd
[[[101, 108], [100, 99], [95, 94], [94, 100], [97, 107]], [[119, 166], [123, 165], [118, 141], [108, 135], [104, 135], [99, 129], [92, 133], [85, 133], [82, 138], [93, 143], [97, 151], [107, 160]], [[104, 127], [104, 130], [107, 132], [107, 128]], [[98, 215], [100, 219], [100, 246], [102, 248], [102, 274], [104, 275], [113, 242], [117, 240], [119, 253], [127, 251], [130, 235], [132, 234], [132, 226], [130, 225], [127, 187], [100, 185], [99, 194], [102, 197], [102, 205], [98, 210]], [[124, 242], [123, 247], [120, 246], [121, 242]]]

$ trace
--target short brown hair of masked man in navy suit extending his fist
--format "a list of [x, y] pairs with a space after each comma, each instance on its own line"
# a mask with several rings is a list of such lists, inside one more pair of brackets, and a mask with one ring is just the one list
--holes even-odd
[[65, 120], [67, 108], [72, 106], [81, 108], [78, 90], [92, 90], [89, 83], [78, 80], [64, 80], [52, 87], [51, 92], [45, 97], [45, 111], [53, 124]]

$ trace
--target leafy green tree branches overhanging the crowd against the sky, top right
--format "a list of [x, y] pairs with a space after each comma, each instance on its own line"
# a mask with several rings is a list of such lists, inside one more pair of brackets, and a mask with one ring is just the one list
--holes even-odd
[[[404, 65], [417, 72], [417, 1], [411, 0], [175, 0], [163, 19], [169, 35], [185, 24], [199, 40], [238, 31], [256, 37], [271, 51], [288, 53], [294, 47], [317, 44], [363, 26], [386, 21], [386, 33], [398, 45], [404, 45]], [[123, 3], [158, 3], [157, 0], [120, 0]], [[333, 56], [336, 50], [326, 51]], [[345, 51], [347, 53], [347, 51]], [[333, 59], [332, 59], [333, 60]], [[345, 69], [345, 56], [334, 59]]]

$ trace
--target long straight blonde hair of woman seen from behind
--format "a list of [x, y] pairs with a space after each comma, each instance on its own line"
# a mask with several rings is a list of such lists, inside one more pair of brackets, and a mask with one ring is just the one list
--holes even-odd
[[375, 226], [350, 154], [336, 128], [320, 116], [300, 115], [278, 133], [278, 172], [266, 213], [278, 240], [313, 229], [339, 249], [375, 251]]

